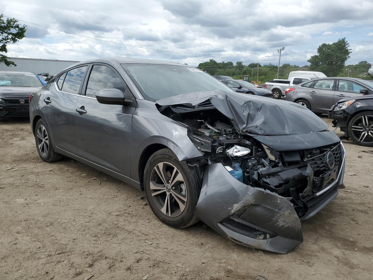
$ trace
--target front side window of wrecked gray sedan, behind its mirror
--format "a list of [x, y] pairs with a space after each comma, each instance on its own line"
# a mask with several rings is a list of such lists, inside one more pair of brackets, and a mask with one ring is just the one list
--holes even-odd
[[94, 65], [88, 79], [85, 95], [95, 97], [98, 91], [107, 88], [117, 88], [124, 93], [126, 87], [111, 68], [104, 65]]

